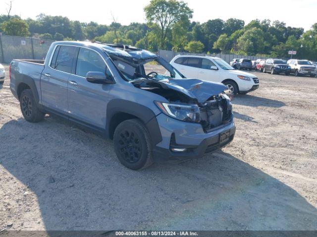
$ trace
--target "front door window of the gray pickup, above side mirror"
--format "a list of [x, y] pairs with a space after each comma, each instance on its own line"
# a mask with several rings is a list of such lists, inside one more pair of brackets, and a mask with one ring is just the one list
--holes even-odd
[[102, 57], [88, 48], [80, 48], [77, 58], [76, 75], [86, 78], [88, 72], [106, 73]]

